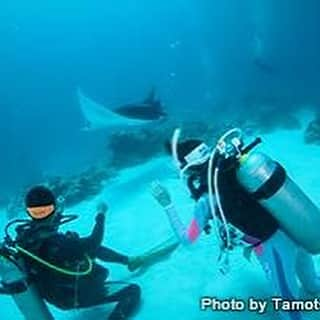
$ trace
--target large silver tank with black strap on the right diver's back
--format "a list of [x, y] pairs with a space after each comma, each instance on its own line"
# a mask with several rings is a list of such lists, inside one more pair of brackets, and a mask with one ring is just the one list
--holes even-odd
[[243, 155], [239, 164], [239, 183], [276, 218], [291, 239], [310, 253], [319, 253], [320, 210], [285, 169], [264, 153]]

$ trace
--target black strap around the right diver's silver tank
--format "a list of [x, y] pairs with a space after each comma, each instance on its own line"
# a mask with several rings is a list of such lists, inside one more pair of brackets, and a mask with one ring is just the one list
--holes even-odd
[[285, 169], [279, 163], [276, 163], [276, 168], [271, 177], [260, 188], [251, 193], [251, 196], [256, 200], [271, 198], [283, 186], [286, 176]]

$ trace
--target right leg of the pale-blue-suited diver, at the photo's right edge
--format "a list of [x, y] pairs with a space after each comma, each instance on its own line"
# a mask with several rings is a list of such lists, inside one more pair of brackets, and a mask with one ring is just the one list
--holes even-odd
[[296, 271], [305, 294], [314, 295], [320, 292], [320, 278], [316, 273], [312, 255], [302, 248], [298, 250]]

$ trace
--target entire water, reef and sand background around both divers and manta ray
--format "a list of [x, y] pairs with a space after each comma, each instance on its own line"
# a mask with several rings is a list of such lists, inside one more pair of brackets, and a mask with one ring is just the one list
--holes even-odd
[[[81, 234], [90, 232], [104, 199], [111, 246], [138, 254], [170, 237], [149, 184], [161, 179], [190, 219], [192, 201], [163, 150], [177, 126], [209, 141], [233, 125], [262, 135], [265, 150], [318, 203], [319, 39], [317, 0], [2, 0], [1, 227], [24, 216], [28, 187], [47, 183], [80, 215], [68, 227]], [[168, 119], [84, 131], [78, 88], [108, 108], [154, 88]], [[135, 319], [276, 319], [200, 312], [198, 299], [207, 294], [270, 293], [257, 263], [236, 254], [234, 271], [223, 278], [216, 255], [204, 237], [142, 274], [110, 268], [112, 278], [133, 277], [142, 286]], [[0, 305], [1, 319], [21, 319], [10, 298], [1, 296]], [[100, 309], [54, 314], [103, 318]]]

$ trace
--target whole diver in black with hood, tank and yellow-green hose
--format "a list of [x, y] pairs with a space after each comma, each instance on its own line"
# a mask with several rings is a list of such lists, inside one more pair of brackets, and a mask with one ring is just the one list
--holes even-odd
[[[88, 237], [59, 232], [60, 226], [77, 216], [63, 215], [48, 188], [32, 188], [25, 205], [31, 220], [14, 220], [5, 230], [0, 248], [0, 293], [14, 298], [26, 320], [53, 319], [44, 301], [63, 310], [116, 303], [106, 319], [127, 319], [139, 305], [140, 287], [107, 281], [108, 269], [95, 259], [123, 264], [134, 271], [150, 257], [173, 249], [172, 244], [158, 246], [145, 255], [128, 257], [103, 246], [104, 203], [97, 208], [96, 223]], [[16, 237], [12, 239], [9, 229], [15, 224]]]

